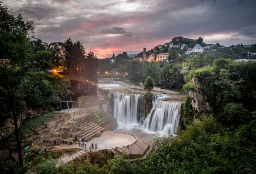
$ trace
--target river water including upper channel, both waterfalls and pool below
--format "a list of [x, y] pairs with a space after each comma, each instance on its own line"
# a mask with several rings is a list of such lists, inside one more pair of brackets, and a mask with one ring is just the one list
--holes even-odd
[[99, 84], [99, 87], [109, 90], [109, 96], [113, 93], [113, 117], [118, 123], [116, 131], [133, 133], [148, 144], [153, 142], [155, 135], [175, 134], [177, 131], [181, 102], [186, 95], [154, 92], [153, 108], [145, 115], [143, 94], [147, 91], [133, 90], [121, 84]]

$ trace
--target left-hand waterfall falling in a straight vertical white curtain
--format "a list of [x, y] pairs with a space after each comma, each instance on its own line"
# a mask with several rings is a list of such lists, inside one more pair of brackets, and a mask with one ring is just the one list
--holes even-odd
[[139, 123], [145, 115], [145, 96], [139, 94], [114, 94], [113, 116], [119, 124]]

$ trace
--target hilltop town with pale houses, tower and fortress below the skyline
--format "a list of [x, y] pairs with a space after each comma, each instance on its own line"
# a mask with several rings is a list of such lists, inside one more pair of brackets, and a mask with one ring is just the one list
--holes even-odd
[[[250, 46], [250, 45], [247, 45]], [[126, 60], [138, 60], [138, 61], [155, 61], [155, 62], [160, 62], [160, 61], [166, 61], [169, 62], [168, 56], [170, 55], [170, 51], [176, 50], [177, 51], [177, 56], [181, 57], [182, 55], [186, 56], [192, 56], [194, 53], [227, 53], [230, 54], [229, 58], [234, 58], [237, 60], [237, 53], [243, 53], [245, 46], [243, 44], [241, 45], [231, 45], [230, 47], [225, 47], [224, 45], [220, 45], [218, 42], [216, 44], [206, 44], [203, 42], [203, 38], [199, 37], [198, 39], [189, 39], [189, 38], [184, 38], [182, 36], [177, 36], [172, 38], [172, 41], [168, 43], [164, 43], [163, 45], [157, 45], [154, 46], [154, 48], [151, 48], [151, 50], [146, 51], [146, 48], [143, 48], [143, 52], [137, 54], [136, 56], [133, 57], [127, 57]], [[230, 51], [229, 51], [230, 50]], [[126, 53], [126, 52], [123, 52]], [[253, 55], [253, 53], [252, 53]], [[243, 58], [246, 58], [246, 56], [243, 54]], [[251, 55], [250, 55], [251, 56]], [[253, 59], [254, 57], [251, 56], [251, 60], [256, 60]], [[105, 59], [109, 59], [111, 63], [114, 63], [116, 58], [114, 56], [112, 57], [107, 57]], [[239, 59], [239, 61], [241, 61]]]

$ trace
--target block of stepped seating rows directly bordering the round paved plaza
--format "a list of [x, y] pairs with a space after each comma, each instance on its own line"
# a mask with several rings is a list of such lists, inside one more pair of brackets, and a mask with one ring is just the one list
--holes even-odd
[[89, 141], [94, 137], [99, 137], [105, 128], [95, 122], [90, 122], [81, 127], [82, 132], [77, 135], [77, 139], [82, 138], [85, 141]]

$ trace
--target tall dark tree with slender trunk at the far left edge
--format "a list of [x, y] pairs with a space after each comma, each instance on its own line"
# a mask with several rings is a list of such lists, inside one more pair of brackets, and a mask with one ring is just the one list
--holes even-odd
[[[31, 67], [32, 51], [29, 34], [33, 31], [33, 22], [24, 22], [21, 15], [13, 17], [0, 3], [0, 88], [7, 96], [7, 105], [11, 110], [10, 117], [15, 126], [20, 166], [23, 166], [21, 153], [22, 109], [25, 105], [23, 85], [26, 84], [26, 72]], [[18, 120], [21, 120], [20, 126]]]

